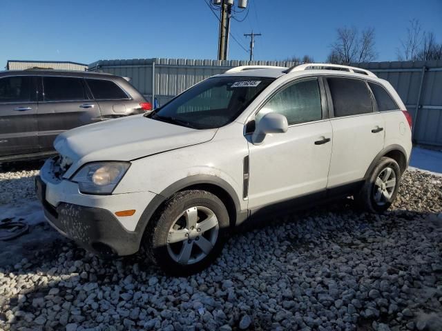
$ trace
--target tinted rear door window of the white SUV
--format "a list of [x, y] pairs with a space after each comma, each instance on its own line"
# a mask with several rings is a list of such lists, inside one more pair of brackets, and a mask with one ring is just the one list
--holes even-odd
[[365, 81], [327, 78], [335, 117], [367, 114], [373, 111], [372, 98]]

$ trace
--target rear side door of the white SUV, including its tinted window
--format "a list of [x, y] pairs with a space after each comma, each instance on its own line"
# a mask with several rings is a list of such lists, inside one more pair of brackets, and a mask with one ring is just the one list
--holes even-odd
[[327, 185], [332, 189], [363, 180], [383, 149], [385, 121], [363, 79], [327, 77], [325, 83], [334, 140]]

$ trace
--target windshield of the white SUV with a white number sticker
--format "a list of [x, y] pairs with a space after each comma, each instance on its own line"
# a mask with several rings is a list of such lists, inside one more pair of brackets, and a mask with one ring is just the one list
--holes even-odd
[[235, 120], [273, 80], [209, 78], [178, 95], [150, 117], [195, 129], [220, 128]]

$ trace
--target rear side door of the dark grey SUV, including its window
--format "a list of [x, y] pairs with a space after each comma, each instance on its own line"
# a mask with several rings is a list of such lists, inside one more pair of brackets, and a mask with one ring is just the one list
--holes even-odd
[[43, 98], [37, 111], [41, 152], [53, 150], [58, 134], [101, 121], [98, 103], [81, 77], [42, 76]]

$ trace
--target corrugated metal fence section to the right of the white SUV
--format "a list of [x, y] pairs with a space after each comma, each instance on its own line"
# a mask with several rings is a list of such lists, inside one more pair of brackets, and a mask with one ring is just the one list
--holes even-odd
[[442, 146], [442, 61], [361, 63], [390, 81], [413, 118], [416, 143]]

